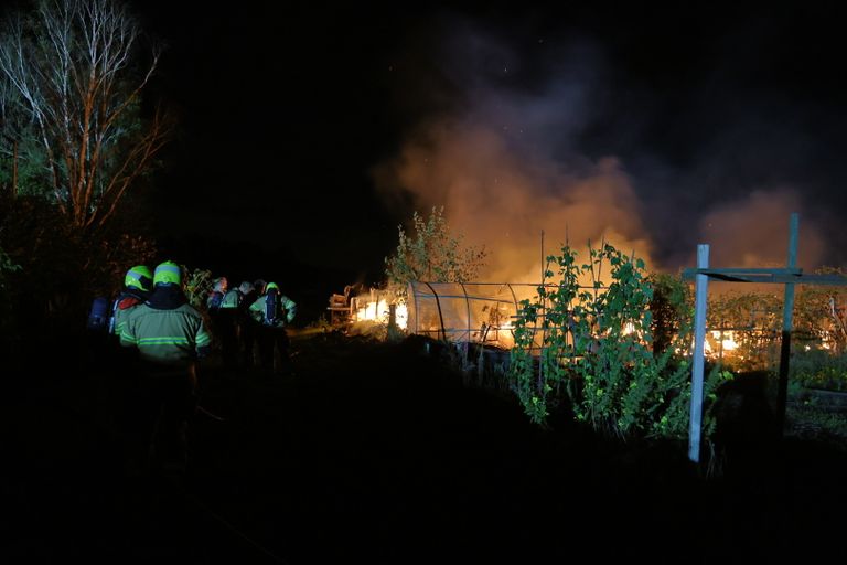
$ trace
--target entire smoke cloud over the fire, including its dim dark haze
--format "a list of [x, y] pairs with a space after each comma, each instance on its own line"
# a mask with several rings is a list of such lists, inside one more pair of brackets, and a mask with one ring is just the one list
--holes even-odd
[[[374, 179], [388, 202], [405, 199], [421, 213], [444, 206], [463, 242], [489, 249], [482, 279], [537, 281], [542, 232], [547, 255], [567, 241], [585, 258], [588, 242], [607, 241], [651, 270], [694, 266], [698, 243], [710, 244], [716, 267], [784, 266], [792, 212], [801, 214], [801, 266], [833, 257], [823, 224], [810, 220], [823, 214], [807, 210], [791, 179], [733, 178], [743, 156], [696, 143], [700, 152], [675, 159], [678, 148], [662, 147], [645, 125], [656, 122], [658, 103], [618, 88], [591, 41], [542, 52], [543, 39], [515, 47], [467, 21], [448, 30], [433, 49], [454, 104], [410, 128]], [[633, 97], [632, 111], [610, 110], [615, 97]], [[737, 134], [712, 135], [709, 147]], [[758, 162], [779, 151], [753, 153]]]

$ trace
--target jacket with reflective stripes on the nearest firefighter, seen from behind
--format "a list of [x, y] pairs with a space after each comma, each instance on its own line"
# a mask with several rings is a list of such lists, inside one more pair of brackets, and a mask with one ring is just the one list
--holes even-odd
[[175, 285], [157, 286], [147, 302], [133, 308], [120, 344], [138, 348], [142, 361], [187, 366], [210, 352], [212, 337], [201, 313]]

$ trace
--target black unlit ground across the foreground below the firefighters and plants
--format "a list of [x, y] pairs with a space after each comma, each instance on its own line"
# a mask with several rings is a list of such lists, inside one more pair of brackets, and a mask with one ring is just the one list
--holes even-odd
[[303, 334], [292, 350], [290, 376], [206, 363], [183, 482], [124, 477], [114, 373], [85, 360], [71, 374], [52, 359], [46, 374], [7, 375], [0, 558], [846, 556], [847, 458], [832, 446], [741, 437], [742, 456], [709, 476], [684, 445], [622, 445], [568, 422], [540, 429], [507, 392], [468, 385], [420, 341]]

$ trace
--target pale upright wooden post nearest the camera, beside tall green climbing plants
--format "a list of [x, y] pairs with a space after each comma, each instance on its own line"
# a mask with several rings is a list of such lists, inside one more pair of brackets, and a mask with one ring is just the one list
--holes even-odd
[[[709, 246], [697, 246], [697, 268], [709, 268]], [[698, 274], [695, 277], [694, 310], [694, 359], [691, 360], [691, 413], [688, 426], [688, 459], [700, 460], [700, 431], [703, 424], [703, 367], [704, 342], [706, 340], [706, 298], [709, 277]]]

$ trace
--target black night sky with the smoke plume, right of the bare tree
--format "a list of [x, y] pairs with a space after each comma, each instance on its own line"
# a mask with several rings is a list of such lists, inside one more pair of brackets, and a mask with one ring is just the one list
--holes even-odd
[[660, 269], [697, 243], [779, 265], [800, 212], [801, 266], [847, 260], [845, 49], [823, 4], [137, 3], [182, 124], [162, 237], [376, 282], [397, 225], [444, 205], [485, 278], [518, 280], [542, 230], [547, 252], [605, 237]]

